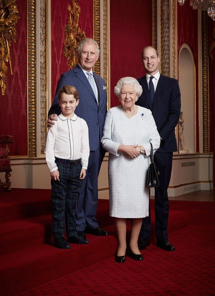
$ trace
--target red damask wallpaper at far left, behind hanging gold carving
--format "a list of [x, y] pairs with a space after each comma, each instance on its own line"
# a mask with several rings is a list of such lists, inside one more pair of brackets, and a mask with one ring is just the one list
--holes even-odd
[[16, 43], [10, 48], [13, 75], [8, 65], [7, 93], [0, 88], [0, 134], [13, 136], [11, 155], [25, 156], [27, 145], [27, 1], [16, 0], [20, 19], [16, 24]]

